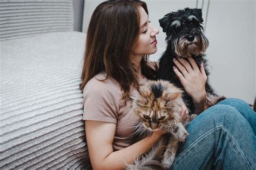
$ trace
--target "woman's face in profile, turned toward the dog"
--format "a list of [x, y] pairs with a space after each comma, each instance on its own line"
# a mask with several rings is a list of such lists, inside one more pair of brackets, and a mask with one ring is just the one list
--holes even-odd
[[139, 7], [140, 16], [140, 33], [136, 47], [133, 50], [133, 55], [151, 55], [157, 51], [157, 39], [156, 35], [159, 30], [150, 25], [149, 16], [146, 11]]

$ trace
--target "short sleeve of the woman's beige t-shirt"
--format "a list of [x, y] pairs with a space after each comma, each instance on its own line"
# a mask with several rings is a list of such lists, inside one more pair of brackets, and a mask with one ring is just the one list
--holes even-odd
[[83, 90], [83, 120], [117, 123], [118, 95], [113, 86], [96, 78], [91, 79]]

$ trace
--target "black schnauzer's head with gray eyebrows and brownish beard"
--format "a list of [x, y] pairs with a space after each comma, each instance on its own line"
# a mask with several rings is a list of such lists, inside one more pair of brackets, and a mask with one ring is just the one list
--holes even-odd
[[201, 9], [185, 8], [167, 13], [159, 19], [166, 32], [167, 43], [171, 43], [173, 52], [178, 57], [200, 56], [208, 47], [208, 40], [203, 34]]

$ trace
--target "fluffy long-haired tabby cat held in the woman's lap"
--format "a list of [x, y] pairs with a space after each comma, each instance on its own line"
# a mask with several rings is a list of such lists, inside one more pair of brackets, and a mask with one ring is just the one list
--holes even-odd
[[126, 169], [167, 169], [172, 165], [179, 142], [188, 135], [185, 125], [196, 117], [193, 114], [185, 122], [181, 120], [182, 93], [169, 81], [149, 80], [133, 95], [132, 109], [139, 117], [134, 139], [141, 140], [159, 129], [168, 133], [149, 152], [138, 155], [133, 164], [126, 164]]

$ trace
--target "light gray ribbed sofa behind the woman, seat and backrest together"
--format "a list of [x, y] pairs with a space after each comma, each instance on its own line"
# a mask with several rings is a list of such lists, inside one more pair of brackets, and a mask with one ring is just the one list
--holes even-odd
[[0, 169], [90, 169], [70, 0], [1, 0]]

